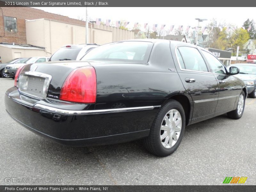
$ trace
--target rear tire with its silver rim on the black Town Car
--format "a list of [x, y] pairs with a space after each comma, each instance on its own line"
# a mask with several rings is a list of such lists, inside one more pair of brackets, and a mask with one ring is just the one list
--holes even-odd
[[185, 131], [185, 112], [176, 100], [169, 100], [159, 109], [143, 140], [144, 146], [156, 156], [171, 155], [180, 145]]

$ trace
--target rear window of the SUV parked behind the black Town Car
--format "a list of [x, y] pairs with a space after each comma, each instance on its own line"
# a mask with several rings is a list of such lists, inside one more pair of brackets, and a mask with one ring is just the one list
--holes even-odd
[[61, 61], [61, 60], [76, 60], [78, 53], [81, 51], [82, 47], [76, 48], [61, 48], [56, 51], [52, 57], [51, 61]]

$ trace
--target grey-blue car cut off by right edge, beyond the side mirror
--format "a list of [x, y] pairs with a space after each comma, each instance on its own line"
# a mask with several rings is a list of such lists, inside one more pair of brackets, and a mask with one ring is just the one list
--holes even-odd
[[256, 98], [256, 65], [239, 63], [233, 64], [229, 67], [239, 68], [240, 72], [236, 75], [236, 77], [244, 81], [249, 97]]

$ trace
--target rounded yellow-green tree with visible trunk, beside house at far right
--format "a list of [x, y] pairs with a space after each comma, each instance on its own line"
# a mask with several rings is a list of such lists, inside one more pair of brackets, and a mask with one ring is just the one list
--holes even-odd
[[232, 49], [233, 55], [236, 55], [237, 46], [242, 47], [250, 39], [246, 29], [236, 28], [227, 38], [227, 44]]

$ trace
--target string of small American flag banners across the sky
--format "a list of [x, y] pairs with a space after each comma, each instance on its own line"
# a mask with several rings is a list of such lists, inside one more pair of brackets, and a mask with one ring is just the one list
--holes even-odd
[[[110, 26], [110, 19], [107, 19], [106, 20], [106, 26]], [[96, 25], [100, 25], [101, 24], [101, 22], [103, 22], [103, 20], [101, 20], [100, 18], [97, 18], [96, 19]], [[126, 27], [128, 24], [129, 24], [130, 22], [128, 22], [128, 21], [124, 21], [124, 27]], [[121, 24], [121, 21], [116, 21], [116, 28], [119, 28], [120, 27], [120, 24]], [[134, 27], [133, 28], [138, 28], [138, 26], [139, 26], [139, 23], [134, 23]], [[153, 26], [152, 26], [152, 30], [153, 31], [157, 31], [157, 30], [164, 30], [164, 28], [165, 28], [165, 26], [166, 25], [161, 25], [161, 27], [160, 27], [160, 25], [158, 25], [158, 24], [153, 24]], [[184, 28], [183, 29], [183, 25], [179, 25], [178, 26], [178, 30], [179, 31], [181, 31], [181, 30], [186, 30], [186, 32], [188, 32], [189, 31], [189, 29], [190, 28], [194, 28], [196, 31], [199, 29], [199, 28], [201, 28], [202, 29], [202, 33], [204, 33], [204, 31], [205, 31], [205, 29], [213, 29], [213, 28], [215, 28], [215, 27], [217, 27], [217, 28], [220, 28], [220, 31], [222, 31], [222, 29], [224, 28], [224, 27], [218, 27], [218, 26], [212, 26], [212, 27], [191, 27], [191, 26], [187, 26], [186, 28]], [[149, 25], [148, 25], [148, 23], [144, 23], [144, 29], [147, 29], [147, 28], [149, 28]], [[229, 31], [230, 29], [232, 29], [233, 27], [226, 27], [226, 30], [227, 31]], [[242, 28], [243, 29], [245, 29], [245, 26], [242, 26]], [[247, 31], [249, 32], [250, 30], [251, 30], [251, 26], [248, 26], [248, 28], [247, 28]], [[167, 31], [169, 31], [169, 32], [172, 32], [172, 30], [174, 29], [174, 25], [171, 25], [170, 26], [170, 28], [169, 29], [167, 29]]]

